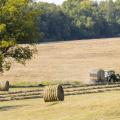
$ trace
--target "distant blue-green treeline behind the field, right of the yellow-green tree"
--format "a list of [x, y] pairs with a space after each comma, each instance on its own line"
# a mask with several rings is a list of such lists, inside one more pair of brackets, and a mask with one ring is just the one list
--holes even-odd
[[[120, 35], [120, 0], [67, 0], [61, 6], [38, 2], [39, 41], [115, 37]], [[41, 14], [42, 13], [42, 14]]]

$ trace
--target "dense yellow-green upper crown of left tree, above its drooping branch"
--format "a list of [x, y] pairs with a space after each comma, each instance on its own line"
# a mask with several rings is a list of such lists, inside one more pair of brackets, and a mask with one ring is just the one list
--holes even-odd
[[[37, 12], [29, 0], [6, 0], [1, 7], [0, 28], [4, 29], [2, 38], [15, 38], [19, 43], [35, 42], [39, 33], [36, 27]], [[2, 30], [3, 31], [3, 30]]]

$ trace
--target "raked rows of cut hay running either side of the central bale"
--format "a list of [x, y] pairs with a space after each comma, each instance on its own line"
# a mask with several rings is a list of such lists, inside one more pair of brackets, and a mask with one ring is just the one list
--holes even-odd
[[[92, 93], [100, 93], [106, 91], [120, 91], [120, 83], [111, 84], [111, 85], [91, 85], [91, 86], [63, 85], [63, 88], [64, 88], [65, 96], [92, 94]], [[42, 88], [37, 87], [36, 90], [0, 92], [0, 101], [43, 98], [43, 89], [44, 87]]]

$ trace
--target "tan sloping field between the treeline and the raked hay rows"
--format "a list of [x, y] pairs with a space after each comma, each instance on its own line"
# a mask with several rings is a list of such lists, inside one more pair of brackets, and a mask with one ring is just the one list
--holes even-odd
[[88, 81], [91, 69], [120, 72], [120, 38], [46, 43], [26, 66], [14, 64], [0, 79], [10, 81]]

